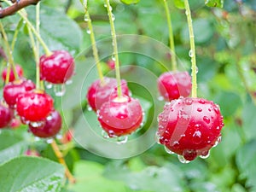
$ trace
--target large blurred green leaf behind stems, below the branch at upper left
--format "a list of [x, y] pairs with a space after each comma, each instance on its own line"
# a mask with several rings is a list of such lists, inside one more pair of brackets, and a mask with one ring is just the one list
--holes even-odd
[[[29, 19], [35, 23], [35, 9], [27, 9]], [[41, 6], [40, 34], [50, 50], [66, 49], [72, 55], [79, 53], [82, 32], [74, 20], [57, 9]]]

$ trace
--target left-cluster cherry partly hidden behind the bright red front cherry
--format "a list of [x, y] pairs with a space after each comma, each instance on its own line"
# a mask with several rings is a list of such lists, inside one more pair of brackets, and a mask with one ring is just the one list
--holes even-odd
[[36, 88], [36, 85], [31, 80], [15, 80], [9, 82], [3, 87], [3, 98], [4, 101], [9, 104], [9, 108], [15, 108], [16, 99], [21, 93], [26, 91], [33, 90]]

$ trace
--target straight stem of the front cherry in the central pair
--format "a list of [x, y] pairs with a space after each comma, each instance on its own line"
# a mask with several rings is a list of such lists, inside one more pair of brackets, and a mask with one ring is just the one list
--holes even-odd
[[108, 20], [111, 27], [111, 35], [112, 35], [112, 41], [113, 41], [113, 56], [114, 56], [114, 63], [115, 63], [115, 76], [117, 81], [117, 92], [118, 97], [122, 97], [122, 89], [121, 89], [121, 77], [120, 77], [120, 69], [119, 69], [119, 55], [118, 55], [118, 46], [117, 46], [117, 40], [116, 40], [116, 33], [115, 28], [113, 24], [113, 14], [112, 14], [112, 7], [109, 3], [109, 0], [105, 0], [105, 6], [108, 10]]

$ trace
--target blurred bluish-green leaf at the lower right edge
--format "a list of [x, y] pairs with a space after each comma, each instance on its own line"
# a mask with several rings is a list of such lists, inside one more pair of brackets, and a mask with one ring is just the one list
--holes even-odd
[[256, 140], [247, 143], [236, 154], [236, 164], [241, 172], [240, 177], [246, 178], [246, 187], [256, 190]]

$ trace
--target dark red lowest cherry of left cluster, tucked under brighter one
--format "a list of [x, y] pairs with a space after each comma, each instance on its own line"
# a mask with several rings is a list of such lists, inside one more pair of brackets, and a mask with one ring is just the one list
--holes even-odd
[[49, 117], [44, 119], [44, 125], [39, 127], [29, 125], [29, 130], [32, 131], [34, 136], [41, 138], [54, 137], [61, 130], [62, 119], [60, 113], [55, 110], [50, 113]]

